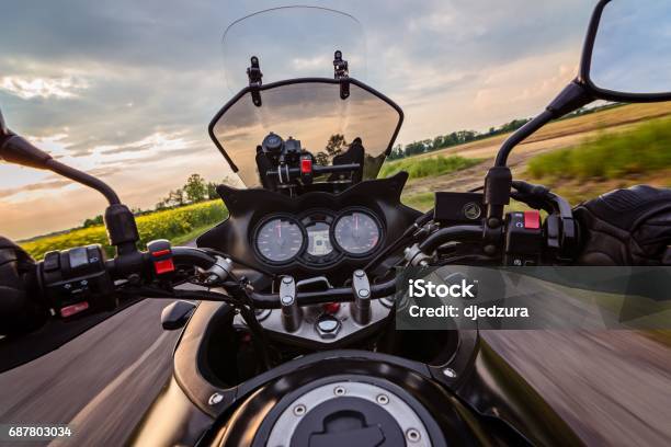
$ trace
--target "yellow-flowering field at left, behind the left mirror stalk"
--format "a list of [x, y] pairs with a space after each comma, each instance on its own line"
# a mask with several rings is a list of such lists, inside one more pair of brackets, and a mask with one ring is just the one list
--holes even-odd
[[[140, 234], [140, 245], [155, 239], [168, 239], [174, 244], [196, 238], [208, 228], [224, 220], [228, 211], [221, 200], [202, 202], [137, 217], [137, 228]], [[20, 243], [36, 260], [52, 250], [65, 250], [70, 247], [100, 243], [107, 254], [113, 255], [113, 248], [107, 245], [107, 233], [102, 225], [79, 228], [67, 233], [46, 236]]]

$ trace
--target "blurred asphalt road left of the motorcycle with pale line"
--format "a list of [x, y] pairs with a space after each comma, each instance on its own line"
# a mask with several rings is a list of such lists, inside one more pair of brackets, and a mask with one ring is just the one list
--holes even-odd
[[71, 424], [62, 445], [122, 445], [172, 371], [178, 333], [160, 324], [169, 302], [144, 300], [1, 374], [0, 423]]

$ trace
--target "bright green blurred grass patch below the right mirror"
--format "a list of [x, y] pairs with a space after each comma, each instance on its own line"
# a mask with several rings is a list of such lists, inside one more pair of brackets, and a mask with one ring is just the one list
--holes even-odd
[[549, 182], [617, 180], [671, 168], [671, 119], [653, 119], [621, 134], [602, 133], [582, 145], [528, 161], [527, 173]]

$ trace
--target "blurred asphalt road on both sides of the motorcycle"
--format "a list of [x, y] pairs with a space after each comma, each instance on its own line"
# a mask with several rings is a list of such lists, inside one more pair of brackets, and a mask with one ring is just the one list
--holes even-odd
[[[61, 444], [123, 444], [171, 371], [177, 333], [159, 323], [168, 302], [139, 302], [0, 375], [0, 423], [69, 423], [76, 438]], [[668, 347], [627, 331], [484, 336], [588, 444], [671, 444]]]

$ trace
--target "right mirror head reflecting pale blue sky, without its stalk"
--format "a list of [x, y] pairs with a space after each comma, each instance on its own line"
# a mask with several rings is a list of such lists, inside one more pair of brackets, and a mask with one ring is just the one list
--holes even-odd
[[587, 33], [579, 80], [596, 99], [671, 100], [671, 2], [602, 0]]

